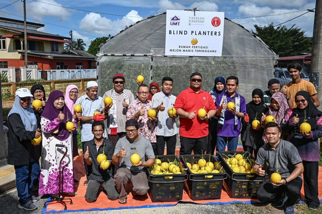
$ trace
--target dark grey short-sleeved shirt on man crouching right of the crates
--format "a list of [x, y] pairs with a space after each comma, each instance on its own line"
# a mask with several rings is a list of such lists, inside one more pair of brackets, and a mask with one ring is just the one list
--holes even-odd
[[294, 165], [302, 163], [302, 159], [298, 154], [297, 148], [288, 141], [280, 139], [279, 144], [274, 150], [270, 144], [265, 144], [258, 150], [258, 165], [268, 162], [268, 173], [278, 172], [283, 179], [287, 178], [294, 170]]

